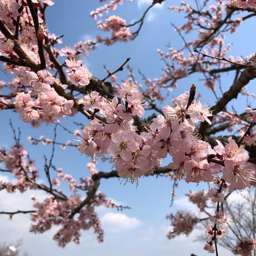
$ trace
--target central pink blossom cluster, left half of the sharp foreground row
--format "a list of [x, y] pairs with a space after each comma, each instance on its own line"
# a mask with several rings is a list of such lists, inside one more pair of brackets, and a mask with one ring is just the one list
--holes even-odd
[[138, 86], [123, 83], [118, 94], [124, 104], [120, 104], [117, 97], [108, 101], [98, 92], [83, 97], [85, 110], [93, 107], [100, 111], [106, 118], [106, 124], [94, 119], [85, 126], [78, 150], [91, 157], [111, 154], [119, 176], [133, 183], [149, 173], [151, 167], [158, 164], [158, 159], [153, 148], [133, 126], [132, 117], [144, 114], [143, 95]]

